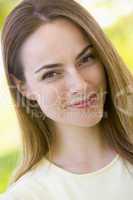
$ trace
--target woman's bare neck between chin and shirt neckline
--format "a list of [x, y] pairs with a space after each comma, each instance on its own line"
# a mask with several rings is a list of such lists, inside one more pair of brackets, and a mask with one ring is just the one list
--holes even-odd
[[112, 152], [104, 140], [104, 130], [100, 123], [93, 127], [54, 123], [50, 128], [56, 136], [52, 148], [53, 161], [76, 164], [89, 160], [95, 165]]

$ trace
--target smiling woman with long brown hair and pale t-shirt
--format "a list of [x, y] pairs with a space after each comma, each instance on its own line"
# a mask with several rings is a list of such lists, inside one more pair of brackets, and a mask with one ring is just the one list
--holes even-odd
[[73, 0], [24, 0], [2, 46], [23, 141], [2, 199], [131, 200], [133, 76], [95, 19]]

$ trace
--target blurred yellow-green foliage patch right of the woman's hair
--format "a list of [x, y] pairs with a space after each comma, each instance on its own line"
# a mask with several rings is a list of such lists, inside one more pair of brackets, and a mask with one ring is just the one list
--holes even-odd
[[113, 26], [105, 30], [110, 40], [124, 59], [128, 68], [133, 71], [133, 13], [121, 17]]

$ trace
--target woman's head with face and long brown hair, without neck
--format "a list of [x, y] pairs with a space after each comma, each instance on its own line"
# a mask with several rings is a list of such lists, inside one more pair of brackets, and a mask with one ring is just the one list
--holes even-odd
[[[121, 89], [125, 95], [129, 92], [133, 77], [88, 11], [73, 0], [22, 1], [6, 19], [2, 45], [10, 92], [15, 105], [20, 104], [15, 109], [24, 158], [17, 178], [50, 151], [54, 133], [46, 117], [80, 126], [102, 120], [106, 140], [133, 162], [131, 119], [120, 111], [126, 96], [116, 99]], [[83, 49], [84, 54], [78, 56]], [[98, 95], [94, 107], [69, 106], [92, 93]]]

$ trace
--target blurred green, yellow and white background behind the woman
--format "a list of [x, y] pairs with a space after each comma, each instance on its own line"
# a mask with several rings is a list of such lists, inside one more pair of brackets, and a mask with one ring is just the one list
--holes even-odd
[[[133, 72], [133, 0], [77, 0], [96, 18]], [[18, 0], [0, 0], [0, 31]], [[1, 49], [1, 47], [0, 47]], [[0, 54], [0, 193], [18, 165], [20, 128], [10, 99]]]

